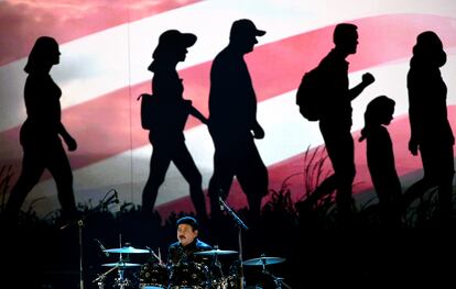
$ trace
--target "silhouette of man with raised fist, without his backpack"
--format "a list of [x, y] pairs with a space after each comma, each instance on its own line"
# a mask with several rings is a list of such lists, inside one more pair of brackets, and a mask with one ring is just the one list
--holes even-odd
[[346, 58], [357, 52], [357, 26], [349, 23], [336, 25], [333, 34], [335, 47], [323, 58], [318, 68], [324, 75], [326, 103], [321, 111], [319, 131], [325, 142], [334, 174], [315, 190], [315, 196], [326, 194], [337, 189], [336, 203], [340, 220], [349, 220], [352, 214], [351, 186], [355, 179], [355, 147], [351, 137], [351, 101], [366, 87], [374, 81], [371, 74], [362, 75], [362, 81], [349, 89]]

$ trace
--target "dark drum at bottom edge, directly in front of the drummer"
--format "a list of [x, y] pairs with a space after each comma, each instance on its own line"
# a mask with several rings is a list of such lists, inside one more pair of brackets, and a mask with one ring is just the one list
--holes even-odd
[[180, 263], [171, 267], [171, 289], [206, 289], [209, 287], [209, 270], [198, 263]]

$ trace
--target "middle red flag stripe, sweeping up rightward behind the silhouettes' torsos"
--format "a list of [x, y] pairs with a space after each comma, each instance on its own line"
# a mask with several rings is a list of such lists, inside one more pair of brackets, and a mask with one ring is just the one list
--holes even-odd
[[[397, 23], [401, 23], [398, 29]], [[456, 33], [453, 20], [427, 15], [387, 15], [352, 21], [360, 29], [359, 56], [351, 59], [351, 71], [408, 57], [415, 35], [431, 26], [437, 27], [446, 47], [456, 45], [449, 37]], [[267, 100], [295, 89], [303, 71], [313, 67], [332, 47], [334, 26], [327, 26], [258, 47], [248, 57], [258, 100]], [[376, 41], [362, 42], [370, 38]], [[394, 40], [394, 41], [392, 41]], [[408, 40], [395, 42], [395, 40]], [[383, 53], [388, 51], [388, 53]], [[371, 57], [368, 57], [370, 56]], [[355, 59], [355, 57], [357, 57]], [[185, 95], [207, 114], [210, 62], [184, 69]], [[150, 91], [149, 81], [123, 88], [64, 111], [64, 123], [79, 143], [69, 154], [73, 168], [82, 168], [130, 148], [148, 144], [146, 132], [140, 126], [139, 102], [135, 97]], [[130, 115], [131, 105], [131, 115]], [[130, 144], [130, 116], [132, 145]], [[82, 125], [84, 124], [84, 125]], [[187, 129], [198, 123], [191, 119]], [[18, 146], [19, 127], [0, 134], [1, 158], [18, 165], [22, 156]], [[192, 144], [189, 144], [192, 145]]]

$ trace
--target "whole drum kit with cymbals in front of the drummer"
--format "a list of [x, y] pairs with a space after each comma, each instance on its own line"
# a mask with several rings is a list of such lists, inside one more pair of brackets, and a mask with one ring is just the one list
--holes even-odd
[[[237, 251], [224, 251], [215, 246], [214, 249], [196, 252], [195, 255], [210, 257], [210, 266], [198, 263], [178, 263], [175, 265], [165, 265], [160, 256], [152, 249], [134, 248], [132, 246], [124, 246], [120, 248], [104, 249], [106, 253], [119, 254], [119, 262], [102, 264], [109, 269], [93, 281], [98, 285], [99, 289], [118, 288], [118, 289], [242, 289], [240, 286], [239, 264], [236, 262], [230, 266], [228, 274], [224, 273], [219, 256], [238, 254]], [[154, 256], [154, 262], [151, 259], [145, 264], [128, 263], [122, 258], [122, 254], [151, 254]], [[275, 277], [267, 270], [267, 266], [280, 264], [285, 262], [284, 258], [267, 257], [262, 255], [259, 258], [248, 259], [242, 262], [245, 266], [262, 267], [263, 274], [274, 279], [276, 288], [282, 286], [290, 288], [283, 282], [283, 278]], [[126, 277], [127, 270], [139, 268], [135, 278], [139, 280], [131, 280]], [[113, 284], [107, 282], [107, 275], [117, 270], [117, 277]], [[258, 287], [256, 287], [258, 288]]]

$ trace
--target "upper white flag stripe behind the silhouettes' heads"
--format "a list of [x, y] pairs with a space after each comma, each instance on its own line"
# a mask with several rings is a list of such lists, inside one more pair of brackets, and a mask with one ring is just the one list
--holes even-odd
[[[62, 104], [67, 108], [149, 80], [151, 74], [146, 67], [152, 48], [166, 29], [198, 35], [187, 60], [180, 66], [184, 68], [213, 59], [227, 44], [230, 24], [236, 19], [252, 19], [258, 27], [267, 30], [267, 35], [260, 38], [260, 44], [265, 44], [346, 20], [391, 13], [454, 16], [456, 5], [450, 0], [204, 1], [66, 43], [61, 47], [62, 64], [52, 74], [64, 91]], [[0, 131], [19, 125], [25, 118], [24, 64], [25, 58], [0, 67], [0, 115], [4, 115]]]

